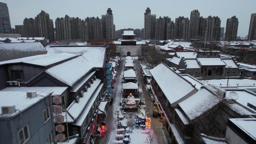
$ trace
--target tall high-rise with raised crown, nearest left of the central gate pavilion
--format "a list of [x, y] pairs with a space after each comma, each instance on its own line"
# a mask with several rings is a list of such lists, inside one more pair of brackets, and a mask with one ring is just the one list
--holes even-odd
[[111, 8], [107, 9], [106, 15], [101, 16], [103, 38], [113, 39], [113, 13]]

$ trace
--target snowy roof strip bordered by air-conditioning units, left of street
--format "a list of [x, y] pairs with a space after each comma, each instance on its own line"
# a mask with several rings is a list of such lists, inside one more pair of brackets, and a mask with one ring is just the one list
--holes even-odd
[[[96, 91], [98, 86], [100, 85], [101, 80], [96, 79], [94, 83], [91, 84], [91, 87], [88, 88], [87, 92], [83, 93], [83, 97], [79, 98], [79, 102], [73, 101], [67, 108], [68, 113], [71, 114], [71, 116], [77, 120], [80, 114], [83, 112], [86, 104], [88, 101], [92, 98], [92, 94]], [[83, 119], [84, 120], [84, 119]]]

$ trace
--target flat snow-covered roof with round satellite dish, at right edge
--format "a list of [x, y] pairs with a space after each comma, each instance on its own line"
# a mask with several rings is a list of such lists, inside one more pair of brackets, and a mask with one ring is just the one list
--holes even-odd
[[248, 102], [255, 102], [256, 103], [256, 94], [243, 90], [243, 89], [225, 89], [226, 90], [226, 99], [232, 99], [232, 97], [230, 96], [231, 92], [236, 92], [238, 94], [238, 99], [236, 99], [235, 101], [240, 103], [241, 105], [243, 105], [244, 107], [249, 108], [252, 111], [255, 111], [253, 108], [249, 107], [247, 104]]

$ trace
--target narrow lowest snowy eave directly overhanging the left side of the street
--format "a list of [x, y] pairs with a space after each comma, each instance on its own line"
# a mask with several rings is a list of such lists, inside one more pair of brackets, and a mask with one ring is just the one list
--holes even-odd
[[[83, 109], [81, 115], [79, 116], [79, 118], [77, 119], [76, 123], [74, 123], [74, 125], [77, 126], [82, 126], [83, 122], [85, 121], [87, 115], [89, 114], [89, 111], [92, 108], [92, 105], [95, 103], [95, 100], [97, 99], [98, 94], [101, 91], [101, 88], [103, 87], [103, 83], [101, 83], [98, 88], [94, 91], [93, 94], [91, 95], [87, 95], [89, 98], [88, 102], [86, 102], [85, 108]], [[84, 94], [85, 95], [85, 94]], [[85, 95], [86, 96], [86, 95]], [[80, 99], [79, 99], [80, 102]]]

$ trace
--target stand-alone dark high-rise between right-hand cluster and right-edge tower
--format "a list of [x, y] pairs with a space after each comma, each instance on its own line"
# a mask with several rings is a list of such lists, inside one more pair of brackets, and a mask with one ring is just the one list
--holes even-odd
[[227, 19], [225, 40], [236, 40], [237, 39], [237, 29], [238, 29], [238, 18], [232, 16]]

